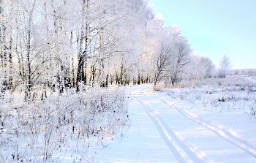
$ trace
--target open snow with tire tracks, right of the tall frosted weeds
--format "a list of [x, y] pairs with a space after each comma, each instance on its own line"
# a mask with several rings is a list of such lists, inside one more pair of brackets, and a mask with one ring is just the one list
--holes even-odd
[[202, 89], [159, 92], [151, 84], [127, 87], [132, 126], [105, 142], [108, 146], [94, 162], [256, 162], [256, 121], [250, 111], [255, 92], [238, 91], [247, 99], [234, 93], [230, 96], [235, 102], [221, 99], [219, 104], [219, 97], [230, 92], [201, 94]]

